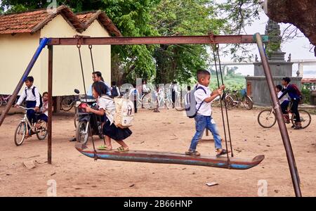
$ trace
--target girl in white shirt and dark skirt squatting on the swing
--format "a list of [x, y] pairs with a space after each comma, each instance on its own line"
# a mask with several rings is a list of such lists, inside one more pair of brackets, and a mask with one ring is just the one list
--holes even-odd
[[124, 139], [131, 136], [132, 132], [129, 128], [121, 129], [114, 124], [115, 104], [114, 100], [107, 96], [107, 87], [103, 82], [94, 82], [92, 85], [93, 96], [98, 99], [98, 109], [86, 108], [87, 112], [95, 113], [96, 115], [104, 116], [105, 123], [103, 125], [103, 134], [105, 135], [106, 146], [100, 146], [99, 150], [112, 150], [111, 139], [114, 139], [121, 145], [115, 152], [121, 153], [129, 151], [129, 146], [124, 143]]

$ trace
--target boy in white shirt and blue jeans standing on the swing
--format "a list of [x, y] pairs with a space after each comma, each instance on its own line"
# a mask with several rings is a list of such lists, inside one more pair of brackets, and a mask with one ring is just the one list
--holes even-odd
[[202, 138], [205, 128], [209, 129], [213, 134], [215, 140], [215, 148], [217, 151], [216, 157], [220, 155], [225, 155], [228, 153], [225, 149], [222, 149], [222, 143], [220, 135], [218, 134], [218, 129], [216, 123], [211, 117], [211, 101], [213, 101], [217, 96], [223, 93], [225, 86], [221, 86], [220, 89], [211, 92], [209, 90], [209, 82], [211, 75], [207, 70], [197, 71], [197, 81], [199, 82], [195, 87], [195, 101], [197, 102], [197, 115], [195, 116], [195, 129], [196, 133], [193, 136], [190, 149], [185, 154], [186, 155], [201, 155], [196, 151], [197, 143]]

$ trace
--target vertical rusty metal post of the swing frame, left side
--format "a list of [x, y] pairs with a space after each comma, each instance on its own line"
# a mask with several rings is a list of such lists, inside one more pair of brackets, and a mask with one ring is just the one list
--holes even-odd
[[48, 46], [48, 164], [51, 164], [53, 117], [53, 46]]

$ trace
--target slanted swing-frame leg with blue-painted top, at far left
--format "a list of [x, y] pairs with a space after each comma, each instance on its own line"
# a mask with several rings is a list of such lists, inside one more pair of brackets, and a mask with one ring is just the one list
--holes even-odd
[[29, 65], [27, 65], [27, 68], [26, 68], [25, 72], [23, 73], [23, 75], [20, 79], [20, 82], [18, 82], [18, 85], [16, 86], [15, 90], [13, 91], [13, 94], [12, 94], [10, 100], [8, 101], [6, 108], [4, 108], [4, 110], [1, 113], [0, 126], [4, 122], [4, 119], [6, 118], [6, 114], [8, 113], [10, 108], [13, 106], [13, 103], [14, 103], [16, 97], [18, 96], [20, 89], [23, 86], [25, 79], [29, 75], [29, 72], [31, 72], [35, 62], [37, 61], [37, 58], [39, 58], [39, 55], [41, 54], [41, 51], [44, 49], [46, 44], [48, 44], [48, 41], [50, 41], [48, 38], [41, 39], [41, 43], [39, 44], [37, 51], [34, 53], [34, 56], [32, 57], [32, 60], [29, 62]]

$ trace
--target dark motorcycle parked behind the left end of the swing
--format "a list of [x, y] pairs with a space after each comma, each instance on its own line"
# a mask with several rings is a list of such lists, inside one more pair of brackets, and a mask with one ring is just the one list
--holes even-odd
[[[79, 94], [79, 90], [75, 89], [74, 92]], [[86, 144], [89, 136], [99, 136], [104, 139], [102, 128], [102, 117], [86, 112], [86, 108], [91, 107], [98, 110], [96, 99], [91, 96], [79, 96], [79, 101], [76, 102], [77, 108], [77, 128], [76, 139], [80, 143]]]

